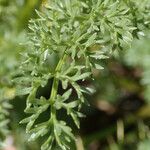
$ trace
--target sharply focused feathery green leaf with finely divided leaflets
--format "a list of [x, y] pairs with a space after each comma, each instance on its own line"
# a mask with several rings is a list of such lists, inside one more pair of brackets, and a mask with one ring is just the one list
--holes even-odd
[[[132, 39], [148, 26], [148, 1], [139, 6], [140, 2], [54, 0], [30, 21], [30, 49], [22, 54], [25, 61], [16, 79], [20, 83], [17, 94], [29, 94], [25, 109], [29, 117], [21, 121], [27, 123], [29, 140], [48, 135], [42, 150], [56, 145], [69, 149], [74, 136], [57, 113], [65, 109], [79, 127], [78, 117], [83, 116], [79, 110], [85, 103], [83, 93], [89, 92], [79, 81], [92, 78], [93, 68], [102, 69], [101, 59], [115, 49], [130, 46]], [[37, 97], [38, 89], [50, 79], [53, 84], [49, 99]], [[63, 94], [59, 93], [60, 85]], [[46, 110], [50, 111], [49, 118], [37, 123]]]

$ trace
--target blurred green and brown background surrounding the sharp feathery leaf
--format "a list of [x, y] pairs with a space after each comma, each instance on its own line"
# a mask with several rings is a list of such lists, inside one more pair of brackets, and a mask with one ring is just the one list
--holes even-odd
[[[12, 77], [19, 70], [26, 46], [28, 21], [36, 17], [41, 0], [0, 0], [0, 144], [17, 150], [39, 150], [40, 141], [28, 143], [24, 118], [25, 97], [15, 97]], [[86, 96], [86, 118], [71, 150], [150, 149], [150, 31], [135, 40], [130, 49], [103, 60], [102, 71], [93, 70], [94, 80], [84, 84], [94, 89]], [[24, 43], [24, 44], [23, 44]], [[55, 61], [55, 59], [53, 60]], [[47, 95], [49, 89], [41, 89]], [[9, 121], [11, 120], [11, 121]], [[2, 148], [2, 150], [5, 148]]]

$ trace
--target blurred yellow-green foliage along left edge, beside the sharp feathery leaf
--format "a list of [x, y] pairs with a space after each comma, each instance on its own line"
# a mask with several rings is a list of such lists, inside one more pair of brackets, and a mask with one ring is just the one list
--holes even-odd
[[[32, 2], [35, 5], [37, 1]], [[27, 9], [21, 10], [25, 4], [23, 0], [0, 0], [0, 145], [9, 133], [8, 118], [9, 111], [12, 109], [10, 100], [15, 98], [16, 91], [12, 77], [20, 65], [20, 52], [26, 48], [21, 45], [26, 42], [25, 29], [19, 30], [22, 21], [26, 20], [26, 11], [31, 13], [33, 9], [32, 5], [28, 7], [28, 3], [25, 5]], [[18, 14], [22, 20], [18, 19]]]

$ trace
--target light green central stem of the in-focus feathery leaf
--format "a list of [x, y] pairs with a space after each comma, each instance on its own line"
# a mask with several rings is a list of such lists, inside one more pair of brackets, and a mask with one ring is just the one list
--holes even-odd
[[60, 72], [62, 65], [65, 62], [67, 55], [64, 52], [62, 58], [59, 60], [57, 67], [55, 69], [55, 76], [53, 79], [53, 85], [52, 85], [52, 91], [51, 91], [51, 96], [50, 96], [50, 104], [51, 104], [51, 118], [54, 119], [54, 121], [56, 120], [56, 109], [53, 106], [53, 104], [55, 103], [55, 99], [57, 96], [57, 91], [58, 91], [58, 84], [59, 84], [59, 79], [57, 78], [57, 73]]

